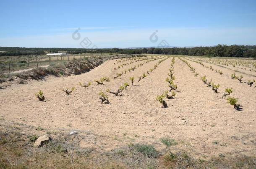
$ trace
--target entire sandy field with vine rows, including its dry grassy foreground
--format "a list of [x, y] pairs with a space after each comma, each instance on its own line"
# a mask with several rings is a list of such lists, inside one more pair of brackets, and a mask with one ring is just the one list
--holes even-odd
[[[147, 55], [80, 75], [5, 82], [0, 168], [255, 168], [254, 80], [251, 59]], [[52, 140], [33, 147], [29, 138], [44, 134]]]

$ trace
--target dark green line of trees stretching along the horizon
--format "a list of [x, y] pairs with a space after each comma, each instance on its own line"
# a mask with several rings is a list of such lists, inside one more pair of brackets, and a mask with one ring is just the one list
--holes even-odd
[[193, 48], [19, 48], [0, 47], [0, 56], [12, 55], [44, 55], [46, 53], [121, 53], [121, 54], [169, 54], [169, 55], [191, 55], [191, 56], [218, 56], [218, 57], [253, 57], [256, 58], [256, 45], [217, 45], [212, 47]]

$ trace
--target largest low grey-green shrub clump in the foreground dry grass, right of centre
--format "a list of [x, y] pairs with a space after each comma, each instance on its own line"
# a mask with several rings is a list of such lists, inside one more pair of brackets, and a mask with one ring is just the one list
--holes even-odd
[[158, 157], [158, 152], [156, 151], [155, 147], [150, 144], [134, 144], [134, 148], [148, 157]]

